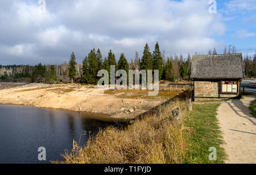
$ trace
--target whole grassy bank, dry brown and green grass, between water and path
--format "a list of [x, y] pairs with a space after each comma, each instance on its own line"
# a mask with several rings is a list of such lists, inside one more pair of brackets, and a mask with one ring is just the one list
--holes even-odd
[[[220, 103], [193, 105], [175, 101], [160, 113], [134, 121], [128, 126], [110, 126], [90, 138], [86, 147], [74, 145], [63, 155], [67, 164], [180, 164], [224, 163], [225, 152], [216, 110]], [[181, 108], [183, 127], [172, 120], [171, 111]], [[209, 161], [209, 148], [216, 147], [217, 161]]]

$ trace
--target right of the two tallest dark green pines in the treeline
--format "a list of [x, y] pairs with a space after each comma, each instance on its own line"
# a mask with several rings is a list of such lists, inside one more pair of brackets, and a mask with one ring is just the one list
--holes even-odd
[[159, 70], [159, 79], [162, 78], [163, 74], [163, 57], [160, 52], [158, 42], [156, 42], [155, 50], [153, 52], [153, 70]]

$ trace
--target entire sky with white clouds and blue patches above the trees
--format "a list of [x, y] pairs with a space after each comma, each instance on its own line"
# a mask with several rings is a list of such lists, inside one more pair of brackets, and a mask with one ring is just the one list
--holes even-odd
[[1, 0], [0, 26], [0, 65], [60, 64], [72, 52], [81, 63], [93, 48], [130, 61], [156, 41], [165, 56], [223, 53], [225, 45], [253, 56], [256, 1]]

